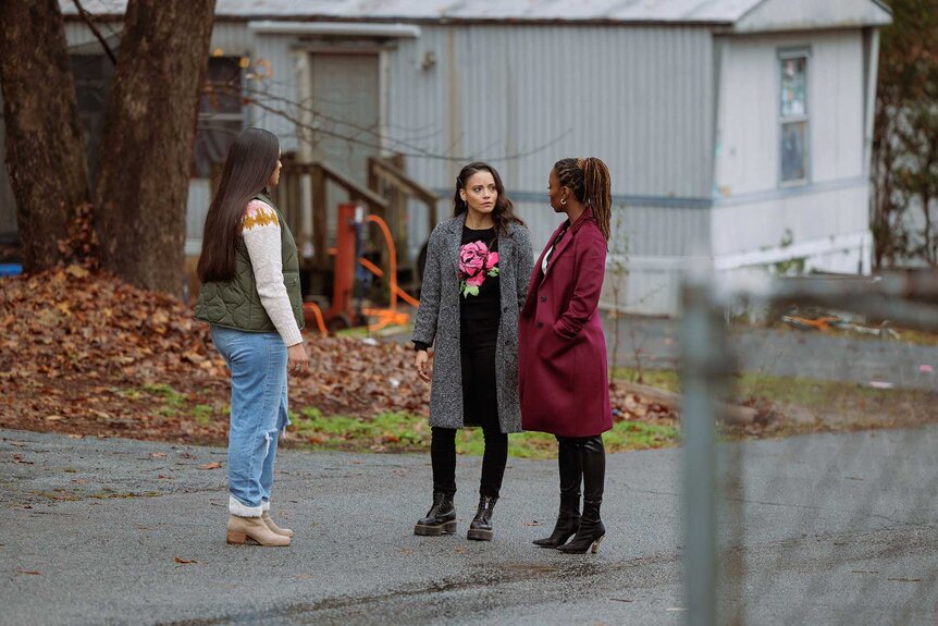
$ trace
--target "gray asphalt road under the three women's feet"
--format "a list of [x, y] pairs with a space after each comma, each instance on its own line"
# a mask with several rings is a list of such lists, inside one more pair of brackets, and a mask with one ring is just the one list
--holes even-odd
[[[746, 624], [938, 623], [938, 427], [721, 447], [721, 605]], [[509, 459], [491, 543], [416, 537], [425, 455], [285, 450], [288, 549], [224, 542], [224, 451], [0, 430], [0, 624], [681, 624], [680, 452], [610, 455], [600, 553], [531, 540], [551, 462]], [[193, 561], [178, 563], [176, 559]], [[728, 617], [725, 617], [728, 619]]]

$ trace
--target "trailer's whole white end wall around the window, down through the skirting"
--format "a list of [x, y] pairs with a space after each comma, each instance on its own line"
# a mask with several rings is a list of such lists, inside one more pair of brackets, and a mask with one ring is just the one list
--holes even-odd
[[[779, 183], [782, 49], [810, 51], [809, 183], [793, 188]], [[862, 259], [868, 270], [861, 33], [730, 37], [725, 50], [711, 230], [715, 262], [732, 266], [788, 250], [816, 269], [856, 271]], [[802, 255], [800, 247], [811, 253]]]

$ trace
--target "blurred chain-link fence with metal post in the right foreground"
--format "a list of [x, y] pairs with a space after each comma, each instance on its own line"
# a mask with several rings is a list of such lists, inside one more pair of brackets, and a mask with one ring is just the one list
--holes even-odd
[[[688, 624], [938, 623], [936, 296], [935, 277], [689, 278]], [[743, 300], [803, 331], [788, 354], [728, 330]]]

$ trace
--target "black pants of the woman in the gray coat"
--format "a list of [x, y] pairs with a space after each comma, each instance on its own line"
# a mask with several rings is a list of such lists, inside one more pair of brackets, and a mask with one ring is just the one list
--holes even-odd
[[[485, 438], [482, 478], [479, 494], [498, 498], [505, 464], [508, 462], [508, 435], [498, 421], [498, 396], [495, 382], [495, 346], [498, 318], [462, 320], [462, 421], [481, 426]], [[433, 491], [456, 493], [456, 429], [431, 429], [430, 461], [433, 465]]]

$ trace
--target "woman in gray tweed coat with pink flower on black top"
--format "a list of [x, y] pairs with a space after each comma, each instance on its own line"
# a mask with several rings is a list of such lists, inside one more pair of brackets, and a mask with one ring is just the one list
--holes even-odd
[[479, 508], [468, 539], [491, 541], [492, 510], [508, 458], [508, 433], [521, 430], [518, 311], [533, 266], [528, 229], [511, 212], [502, 179], [476, 162], [456, 179], [454, 216], [430, 235], [414, 327], [418, 375], [430, 391], [433, 504], [416, 535], [456, 531], [456, 430], [481, 426], [485, 438]]

